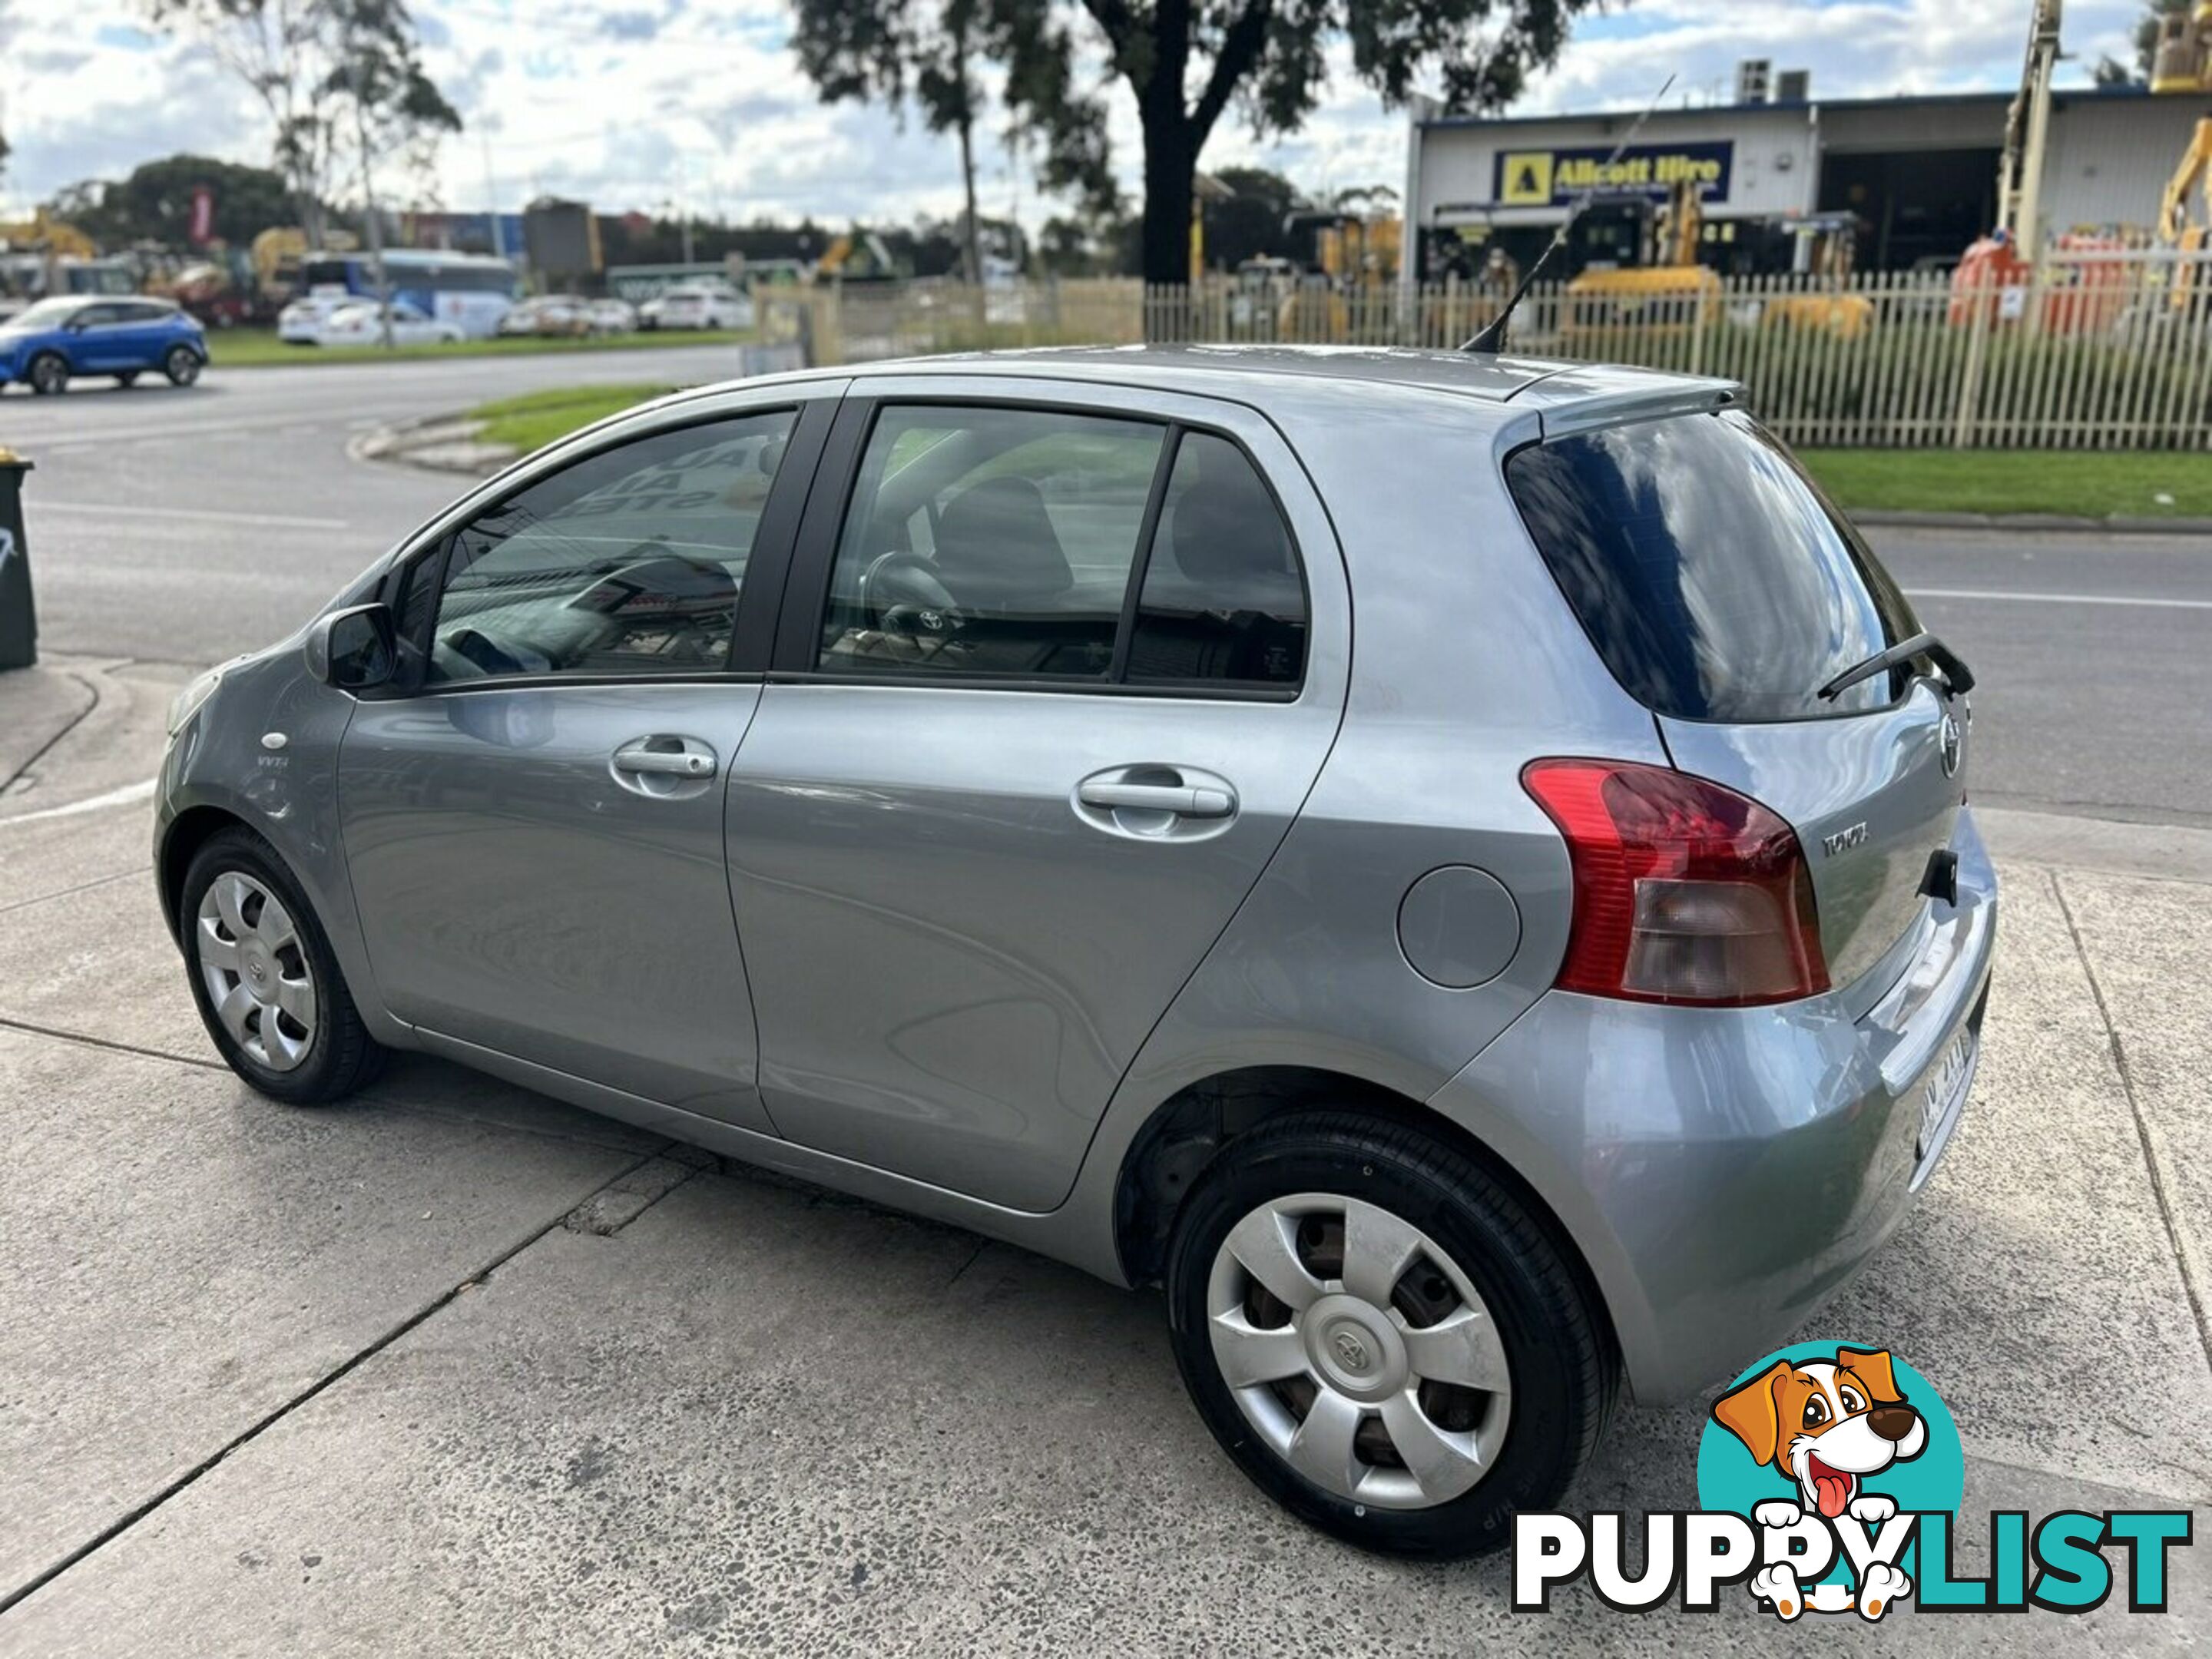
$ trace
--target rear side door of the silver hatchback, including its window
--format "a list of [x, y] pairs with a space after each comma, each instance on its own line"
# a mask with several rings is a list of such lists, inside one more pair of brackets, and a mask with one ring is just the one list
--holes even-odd
[[776, 1130], [1048, 1210], [1321, 770], [1349, 606], [1250, 409], [989, 385], [843, 407], [728, 847]]

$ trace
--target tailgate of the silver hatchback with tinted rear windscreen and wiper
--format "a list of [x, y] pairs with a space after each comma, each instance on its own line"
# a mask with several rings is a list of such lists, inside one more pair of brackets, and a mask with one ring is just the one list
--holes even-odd
[[1823, 688], [1920, 633], [1911, 604], [1741, 414], [1568, 431], [1506, 462], [1537, 549], [1683, 772], [1778, 812], [1827, 973], [1860, 1009], [1929, 920], [1966, 799], [1964, 697], [1929, 659]]

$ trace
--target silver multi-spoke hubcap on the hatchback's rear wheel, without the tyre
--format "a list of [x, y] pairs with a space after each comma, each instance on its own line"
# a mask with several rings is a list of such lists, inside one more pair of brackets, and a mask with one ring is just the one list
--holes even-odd
[[1429, 1509], [1504, 1447], [1513, 1380], [1489, 1307], [1442, 1245], [1376, 1203], [1259, 1206], [1221, 1241], [1206, 1312], [1237, 1407], [1323, 1491]]

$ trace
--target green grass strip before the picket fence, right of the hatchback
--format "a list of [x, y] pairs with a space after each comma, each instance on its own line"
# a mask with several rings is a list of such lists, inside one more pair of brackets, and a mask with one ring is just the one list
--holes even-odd
[[1847, 509], [2212, 518], [2201, 451], [1801, 449], [1798, 460]]

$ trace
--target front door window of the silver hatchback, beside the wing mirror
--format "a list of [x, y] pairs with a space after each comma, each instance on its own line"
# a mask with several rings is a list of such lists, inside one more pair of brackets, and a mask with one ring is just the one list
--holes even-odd
[[719, 670], [794, 420], [639, 438], [476, 518], [453, 538], [427, 679]]

